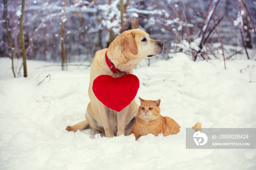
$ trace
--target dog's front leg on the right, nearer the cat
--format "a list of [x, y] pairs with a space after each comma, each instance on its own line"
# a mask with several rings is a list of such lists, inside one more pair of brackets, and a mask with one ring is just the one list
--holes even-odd
[[117, 112], [117, 136], [125, 135], [125, 124], [128, 116], [129, 106], [125, 107], [121, 112]]

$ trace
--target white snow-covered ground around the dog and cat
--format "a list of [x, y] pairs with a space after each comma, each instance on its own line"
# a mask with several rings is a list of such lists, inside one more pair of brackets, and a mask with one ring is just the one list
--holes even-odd
[[181, 131], [138, 141], [101, 137], [91, 129], [65, 131], [84, 120], [90, 67], [64, 72], [59, 66], [36, 69], [53, 63], [27, 61], [29, 76], [12, 78], [11, 60], [0, 58], [0, 169], [255, 169], [255, 149], [186, 149], [185, 128], [196, 122], [204, 128], [255, 128], [256, 61], [226, 61], [225, 70], [222, 60], [172, 56], [134, 69], [140, 80], [136, 102], [160, 98], [161, 115], [177, 121]]

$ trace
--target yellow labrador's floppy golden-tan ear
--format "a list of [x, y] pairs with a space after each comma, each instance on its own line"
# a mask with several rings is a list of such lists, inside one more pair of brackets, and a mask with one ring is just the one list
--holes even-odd
[[133, 55], [138, 54], [138, 47], [135, 41], [135, 32], [122, 36], [121, 43], [123, 49], [127, 48]]

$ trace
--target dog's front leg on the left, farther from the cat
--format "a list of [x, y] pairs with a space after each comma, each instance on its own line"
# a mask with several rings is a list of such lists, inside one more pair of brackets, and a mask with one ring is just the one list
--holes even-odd
[[99, 107], [99, 113], [101, 116], [106, 137], [114, 137], [113, 129], [111, 127], [109, 119], [109, 109], [105, 106]]

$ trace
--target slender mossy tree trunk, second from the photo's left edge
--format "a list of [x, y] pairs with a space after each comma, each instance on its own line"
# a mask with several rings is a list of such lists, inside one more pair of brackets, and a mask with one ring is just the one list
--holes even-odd
[[24, 70], [24, 77], [27, 77], [27, 55], [25, 50], [25, 41], [23, 35], [23, 16], [24, 16], [24, 8], [25, 8], [25, 0], [22, 0], [22, 7], [21, 7], [21, 15], [19, 19], [19, 38], [20, 38], [20, 47], [22, 50], [22, 58], [23, 58], [23, 70]]

